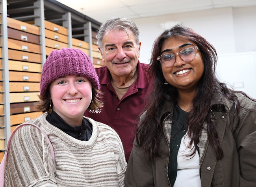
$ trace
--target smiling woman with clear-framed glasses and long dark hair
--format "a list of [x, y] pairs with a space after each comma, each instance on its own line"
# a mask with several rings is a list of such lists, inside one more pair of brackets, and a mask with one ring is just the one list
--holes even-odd
[[182, 25], [155, 40], [126, 187], [256, 186], [256, 100], [221, 83], [216, 62], [215, 48]]

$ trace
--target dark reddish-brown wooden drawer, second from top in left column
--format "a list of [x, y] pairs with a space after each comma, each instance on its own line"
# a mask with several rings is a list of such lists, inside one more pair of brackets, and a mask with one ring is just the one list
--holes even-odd
[[37, 35], [26, 33], [24, 31], [18, 31], [12, 28], [7, 28], [7, 32], [8, 32], [8, 38], [30, 42], [33, 44], [40, 44], [39, 36]]

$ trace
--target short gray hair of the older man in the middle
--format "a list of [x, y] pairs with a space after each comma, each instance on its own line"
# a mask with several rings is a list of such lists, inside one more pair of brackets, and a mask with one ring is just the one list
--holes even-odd
[[102, 39], [107, 31], [124, 30], [129, 37], [128, 29], [134, 34], [136, 44], [139, 46], [139, 29], [135, 23], [127, 18], [116, 17], [108, 19], [97, 31], [98, 46], [100, 47], [100, 50], [102, 50], [103, 47]]

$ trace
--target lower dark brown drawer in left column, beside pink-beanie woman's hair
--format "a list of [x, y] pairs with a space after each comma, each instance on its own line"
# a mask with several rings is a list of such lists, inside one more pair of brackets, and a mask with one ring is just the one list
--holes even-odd
[[34, 102], [10, 104], [11, 114], [35, 112]]

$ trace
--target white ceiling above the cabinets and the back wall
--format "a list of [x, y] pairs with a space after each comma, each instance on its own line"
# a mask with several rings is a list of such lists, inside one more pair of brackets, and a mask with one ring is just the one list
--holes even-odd
[[[111, 17], [129, 19], [214, 9], [256, 6], [256, 0], [58, 0], [98, 22]], [[256, 10], [255, 10], [256, 11]]]

